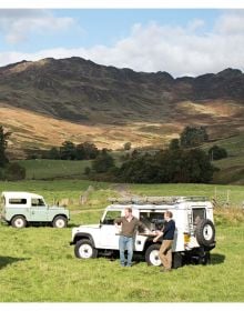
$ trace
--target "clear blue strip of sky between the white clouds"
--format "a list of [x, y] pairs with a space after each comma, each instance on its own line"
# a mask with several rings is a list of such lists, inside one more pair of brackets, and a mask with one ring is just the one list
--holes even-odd
[[[6, 16], [24, 16], [24, 12], [43, 10], [2, 10]], [[47, 11], [47, 10], [45, 10]], [[156, 22], [160, 24], [171, 24], [172, 27], [186, 26], [190, 20], [203, 19], [206, 24], [205, 31], [210, 31], [216, 17], [222, 10], [201, 10], [201, 9], [57, 9], [49, 10], [57, 19], [71, 18], [75, 24], [72, 28], [60, 32], [38, 33], [29, 30], [28, 40], [8, 42], [4, 40], [6, 31], [0, 32], [0, 51], [8, 51], [14, 48], [16, 51], [34, 52], [47, 48], [90, 48], [95, 44], [112, 46], [118, 40], [126, 38], [133, 24], [149, 24]], [[28, 13], [26, 14], [28, 19]], [[31, 28], [31, 24], [30, 24]], [[203, 29], [201, 30], [203, 31]]]

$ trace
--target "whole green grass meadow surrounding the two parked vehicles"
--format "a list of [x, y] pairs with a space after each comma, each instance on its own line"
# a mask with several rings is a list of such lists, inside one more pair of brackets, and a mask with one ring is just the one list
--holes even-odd
[[[79, 198], [92, 191], [81, 205]], [[217, 185], [217, 188], [220, 188]], [[223, 191], [227, 187], [222, 185]], [[216, 248], [210, 265], [184, 265], [172, 273], [159, 272], [135, 261], [131, 269], [119, 260], [79, 260], [70, 245], [74, 225], [98, 223], [108, 198], [121, 191], [144, 195], [212, 195], [214, 185], [118, 185], [82, 180], [1, 182], [0, 191], [24, 190], [47, 201], [73, 199], [65, 229], [29, 227], [17, 230], [0, 224], [1, 302], [242, 302], [244, 297], [244, 212], [238, 205], [216, 208]], [[243, 198], [243, 187], [232, 192]]]

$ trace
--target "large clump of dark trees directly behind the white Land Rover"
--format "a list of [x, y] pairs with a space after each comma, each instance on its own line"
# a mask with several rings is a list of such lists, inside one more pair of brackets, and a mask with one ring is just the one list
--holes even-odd
[[94, 160], [92, 169], [96, 173], [105, 173], [108, 180], [118, 182], [209, 183], [213, 180], [213, 173], [218, 170], [212, 161], [226, 158], [227, 152], [217, 146], [213, 146], [207, 152], [199, 148], [207, 141], [206, 128], [186, 127], [180, 139], [171, 140], [169, 148], [164, 150], [156, 152], [134, 150], [128, 153], [120, 167], [114, 164], [110, 154], [104, 153], [103, 158]]

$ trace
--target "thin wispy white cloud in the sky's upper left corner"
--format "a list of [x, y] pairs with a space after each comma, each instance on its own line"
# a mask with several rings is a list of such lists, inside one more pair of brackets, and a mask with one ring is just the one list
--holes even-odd
[[58, 18], [47, 10], [0, 10], [0, 31], [10, 44], [27, 40], [31, 33], [57, 32], [73, 24], [72, 18]]

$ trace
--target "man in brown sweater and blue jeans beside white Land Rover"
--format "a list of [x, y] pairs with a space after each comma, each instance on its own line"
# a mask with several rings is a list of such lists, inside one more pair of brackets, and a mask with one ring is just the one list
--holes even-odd
[[[134, 235], [138, 227], [144, 230], [146, 227], [132, 214], [131, 208], [124, 209], [124, 217], [114, 220], [115, 225], [121, 224], [121, 235], [119, 239], [120, 263], [122, 267], [131, 267], [134, 247]], [[124, 257], [124, 251], [128, 250], [128, 259]]]

